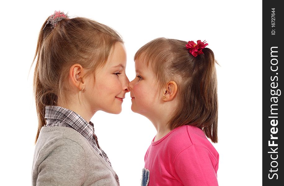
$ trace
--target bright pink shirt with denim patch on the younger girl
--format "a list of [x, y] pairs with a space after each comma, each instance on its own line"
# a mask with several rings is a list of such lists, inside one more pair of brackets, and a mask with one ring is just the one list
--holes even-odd
[[180, 126], [154, 139], [145, 154], [143, 186], [218, 185], [219, 154], [201, 129]]

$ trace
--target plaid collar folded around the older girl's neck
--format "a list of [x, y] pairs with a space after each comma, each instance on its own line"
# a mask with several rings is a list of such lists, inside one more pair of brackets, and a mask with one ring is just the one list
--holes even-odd
[[53, 123], [50, 119], [56, 119], [57, 121], [59, 120], [68, 124], [86, 139], [92, 141], [94, 124], [92, 122], [88, 123], [83, 117], [72, 110], [59, 106], [45, 106], [45, 118], [47, 119], [47, 126]]

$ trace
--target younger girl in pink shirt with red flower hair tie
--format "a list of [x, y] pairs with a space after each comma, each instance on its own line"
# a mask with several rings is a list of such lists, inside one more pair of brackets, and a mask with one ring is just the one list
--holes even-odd
[[217, 79], [205, 42], [157, 38], [135, 54], [129, 83], [131, 109], [147, 117], [157, 135], [145, 154], [142, 186], [215, 186]]

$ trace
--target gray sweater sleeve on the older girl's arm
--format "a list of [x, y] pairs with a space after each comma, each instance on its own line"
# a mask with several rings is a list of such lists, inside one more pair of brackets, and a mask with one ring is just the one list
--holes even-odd
[[37, 186], [83, 184], [85, 152], [78, 143], [70, 139], [59, 139], [40, 153], [48, 155], [38, 166]]

